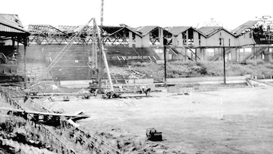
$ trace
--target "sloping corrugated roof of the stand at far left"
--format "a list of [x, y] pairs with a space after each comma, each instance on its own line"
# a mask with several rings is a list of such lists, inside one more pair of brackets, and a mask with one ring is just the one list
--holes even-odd
[[26, 33], [16, 14], [0, 14], [0, 31]]

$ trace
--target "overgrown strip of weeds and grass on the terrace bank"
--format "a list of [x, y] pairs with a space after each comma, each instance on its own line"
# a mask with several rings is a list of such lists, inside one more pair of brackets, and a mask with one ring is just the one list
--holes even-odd
[[[153, 78], [164, 77], [164, 65], [155, 63], [132, 63], [131, 68], [147, 74]], [[251, 60], [247, 65], [226, 63], [227, 76], [241, 76], [252, 74], [253, 76], [270, 76], [273, 74], [273, 61], [265, 62], [263, 60]], [[222, 61], [202, 61], [183, 63], [174, 61], [167, 63], [167, 77], [204, 77], [204, 76], [223, 76]]]

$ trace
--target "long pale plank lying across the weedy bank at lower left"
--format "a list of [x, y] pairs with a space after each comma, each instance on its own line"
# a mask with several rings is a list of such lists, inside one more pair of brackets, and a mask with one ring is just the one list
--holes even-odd
[[52, 116], [63, 116], [63, 117], [90, 117], [90, 115], [75, 115], [75, 114], [57, 114], [57, 113], [48, 113], [48, 112], [38, 112], [38, 111], [28, 111], [28, 110], [18, 110], [0, 107], [0, 110], [8, 110], [13, 112], [25, 112], [28, 114], [40, 114], [40, 115], [52, 115]]

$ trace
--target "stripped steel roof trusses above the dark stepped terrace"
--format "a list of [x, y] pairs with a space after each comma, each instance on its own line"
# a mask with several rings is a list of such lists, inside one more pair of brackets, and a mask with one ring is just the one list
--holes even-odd
[[[81, 26], [29, 25], [29, 45], [66, 45], [77, 33]], [[101, 28], [101, 27], [100, 27]], [[93, 40], [94, 26], [86, 26], [81, 34], [74, 38], [73, 44], [88, 45], [96, 42]], [[104, 45], [129, 45], [129, 32], [132, 32], [132, 44], [135, 44], [135, 36], [141, 34], [133, 28], [120, 24], [120, 26], [103, 26], [102, 42]]]

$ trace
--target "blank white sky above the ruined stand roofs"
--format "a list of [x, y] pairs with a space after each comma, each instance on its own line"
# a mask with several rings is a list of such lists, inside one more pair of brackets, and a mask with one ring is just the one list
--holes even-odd
[[[195, 26], [214, 18], [234, 29], [248, 20], [272, 16], [273, 0], [105, 0], [104, 25]], [[29, 24], [84, 25], [100, 22], [101, 0], [2, 0], [0, 13], [18, 14]]]

